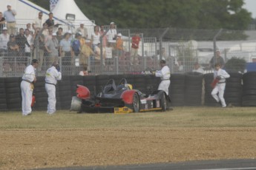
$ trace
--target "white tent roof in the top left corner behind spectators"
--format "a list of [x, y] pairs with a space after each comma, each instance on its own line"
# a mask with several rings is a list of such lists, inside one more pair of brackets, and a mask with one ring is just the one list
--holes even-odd
[[33, 19], [38, 16], [39, 11], [44, 13], [44, 19], [47, 19], [48, 13], [50, 13], [48, 10], [27, 0], [0, 0], [0, 11], [2, 13], [7, 10], [7, 4], [11, 4], [12, 9], [16, 10], [17, 24], [32, 23]]

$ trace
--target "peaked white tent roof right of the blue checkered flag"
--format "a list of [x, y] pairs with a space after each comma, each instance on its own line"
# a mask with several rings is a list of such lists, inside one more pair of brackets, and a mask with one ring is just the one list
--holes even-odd
[[73, 0], [61, 0], [58, 1], [56, 6], [53, 9], [53, 16], [56, 18], [60, 18], [65, 21], [66, 14], [74, 14], [76, 15], [76, 20], [73, 21], [74, 24], [80, 24], [83, 23], [87, 26], [94, 25], [93, 21], [88, 19], [84, 13], [79, 9], [79, 7], [76, 5], [76, 2]]

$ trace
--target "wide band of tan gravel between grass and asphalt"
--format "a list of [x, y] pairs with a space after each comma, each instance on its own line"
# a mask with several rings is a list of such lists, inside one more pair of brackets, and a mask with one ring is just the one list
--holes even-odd
[[256, 128], [1, 129], [0, 169], [256, 158]]

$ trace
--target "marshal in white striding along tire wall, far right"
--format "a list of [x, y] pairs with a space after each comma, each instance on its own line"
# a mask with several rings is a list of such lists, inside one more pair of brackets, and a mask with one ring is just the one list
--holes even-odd
[[[214, 82], [216, 84], [213, 85], [214, 89], [212, 90], [211, 95], [217, 103], [221, 102], [222, 107], [226, 107], [226, 102], [223, 96], [226, 87], [226, 78], [229, 77], [230, 75], [224, 69], [220, 69], [220, 64], [215, 64]], [[217, 93], [219, 94], [217, 95]]]

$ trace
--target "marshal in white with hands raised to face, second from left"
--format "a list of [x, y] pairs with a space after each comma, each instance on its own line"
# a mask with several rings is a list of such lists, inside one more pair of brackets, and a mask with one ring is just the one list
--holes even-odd
[[47, 114], [56, 112], [56, 84], [60, 80], [62, 80], [62, 72], [57, 61], [54, 61], [45, 75], [45, 89], [48, 94]]

